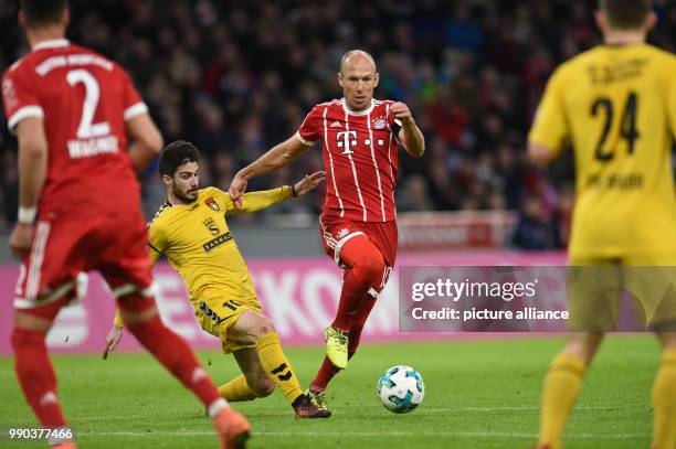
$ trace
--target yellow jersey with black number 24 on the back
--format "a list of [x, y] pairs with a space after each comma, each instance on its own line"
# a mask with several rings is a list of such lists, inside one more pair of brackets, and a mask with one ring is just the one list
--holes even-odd
[[529, 140], [573, 146], [571, 258], [676, 255], [675, 135], [673, 54], [600, 45], [554, 72]]

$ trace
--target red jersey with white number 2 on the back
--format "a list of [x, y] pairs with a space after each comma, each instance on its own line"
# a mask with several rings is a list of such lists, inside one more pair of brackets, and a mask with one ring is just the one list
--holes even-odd
[[125, 121], [148, 108], [119, 65], [66, 40], [43, 42], [4, 73], [2, 96], [10, 131], [27, 117], [44, 118], [42, 217], [140, 210]]

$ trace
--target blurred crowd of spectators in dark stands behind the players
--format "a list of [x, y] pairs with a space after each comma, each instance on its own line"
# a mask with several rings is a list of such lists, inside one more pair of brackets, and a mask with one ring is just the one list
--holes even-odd
[[[0, 70], [28, 51], [18, 1], [0, 0]], [[405, 101], [427, 151], [400, 157], [400, 211], [515, 210], [515, 245], [564, 245], [573, 202], [570, 152], [541, 172], [525, 159], [534, 109], [552, 68], [600, 42], [595, 1], [71, 0], [68, 38], [120, 62], [167, 142], [202, 152], [202, 184], [228, 189], [240, 167], [292, 136], [317, 103], [341, 96], [341, 55], [360, 47], [380, 72], [377, 98]], [[676, 4], [657, 1], [651, 42], [674, 51]], [[0, 120], [4, 122], [4, 120]], [[15, 141], [0, 131], [0, 214], [17, 211]], [[321, 167], [318, 147], [256, 179], [291, 183]], [[163, 201], [144, 177], [151, 214]], [[308, 222], [323, 192], [270, 213]], [[265, 220], [261, 213], [254, 220]], [[251, 218], [250, 218], [251, 220]]]

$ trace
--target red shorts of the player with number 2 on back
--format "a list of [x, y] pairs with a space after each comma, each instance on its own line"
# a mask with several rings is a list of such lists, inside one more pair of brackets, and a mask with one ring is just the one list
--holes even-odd
[[92, 269], [102, 274], [114, 293], [150, 286], [148, 232], [140, 211], [38, 222], [31, 252], [21, 264], [14, 308], [72, 299], [77, 275]]

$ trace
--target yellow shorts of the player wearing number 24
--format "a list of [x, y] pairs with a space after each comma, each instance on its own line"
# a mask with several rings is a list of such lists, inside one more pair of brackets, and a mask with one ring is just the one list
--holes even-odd
[[676, 257], [673, 256], [571, 257], [570, 330], [619, 330], [622, 314], [627, 313], [620, 304], [623, 291], [631, 298], [635, 325], [620, 327], [620, 330], [640, 331], [647, 327], [676, 330]]

